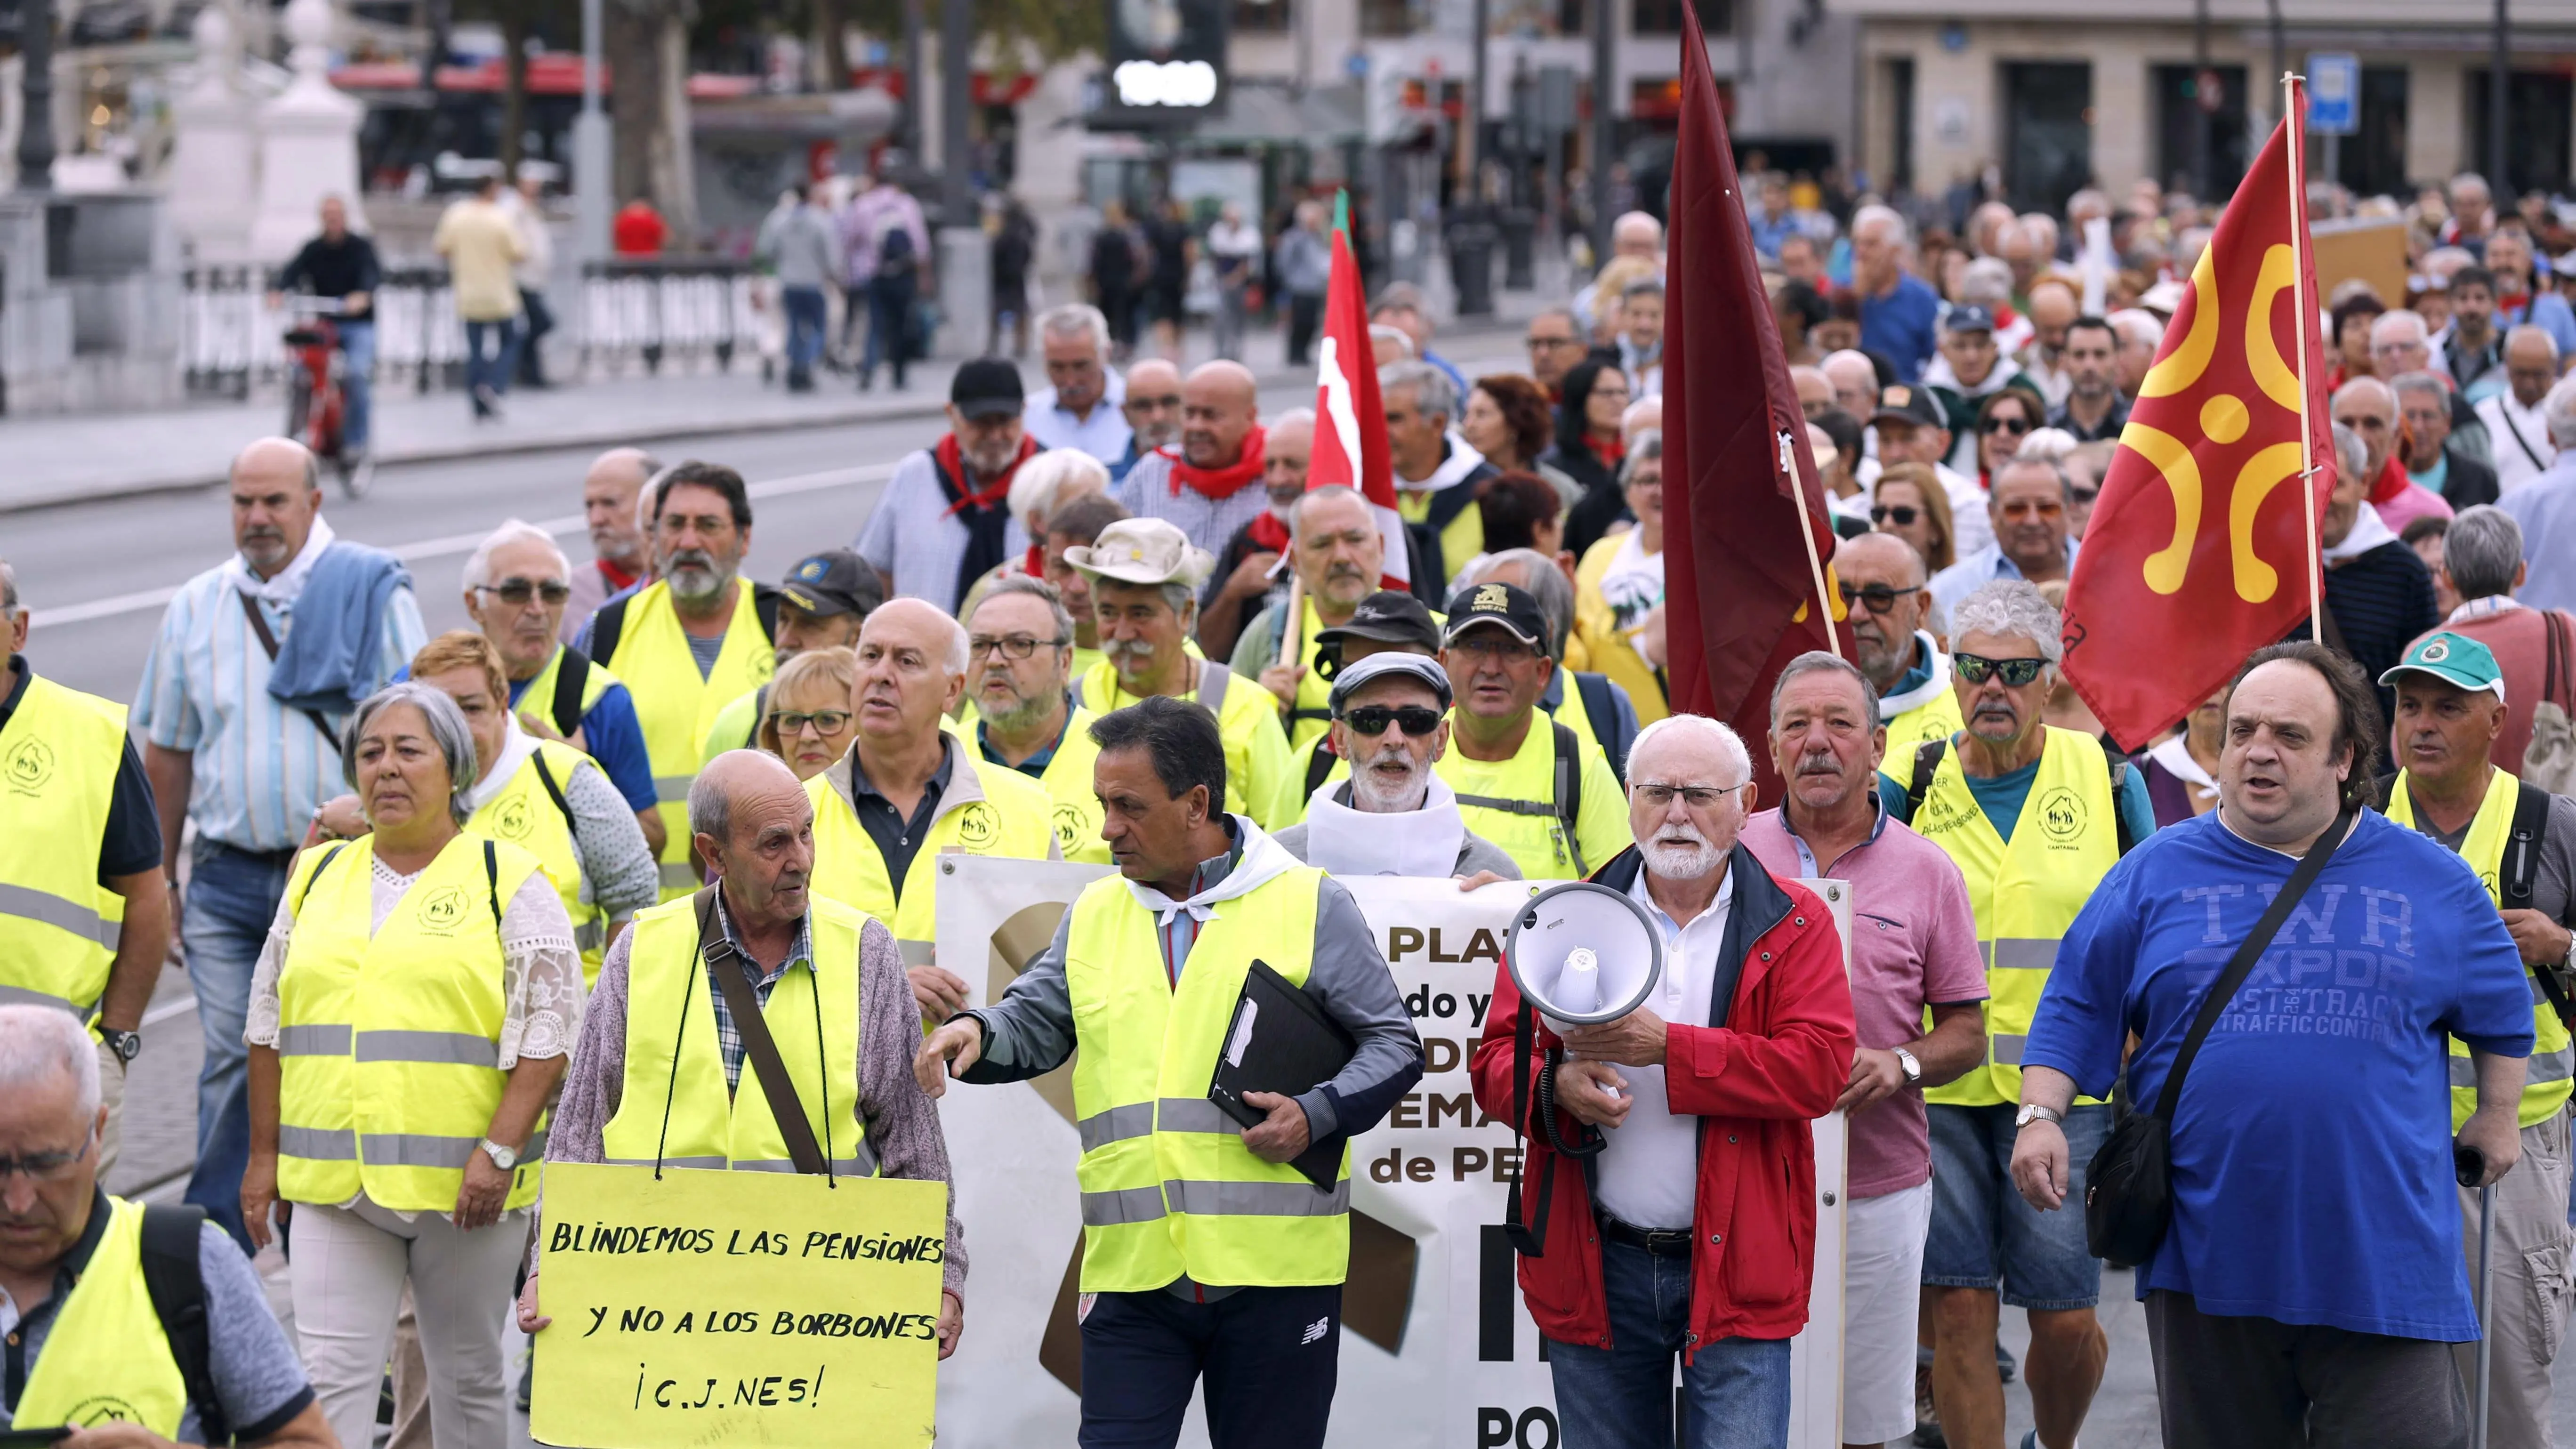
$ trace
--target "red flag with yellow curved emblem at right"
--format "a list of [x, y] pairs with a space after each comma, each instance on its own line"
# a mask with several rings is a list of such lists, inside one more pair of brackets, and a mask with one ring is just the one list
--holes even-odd
[[2318, 593], [2334, 438], [2303, 180], [2282, 124], [2192, 268], [2066, 585], [2066, 681], [2133, 750]]

